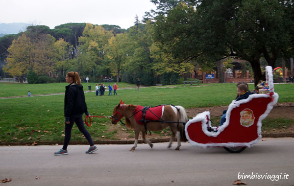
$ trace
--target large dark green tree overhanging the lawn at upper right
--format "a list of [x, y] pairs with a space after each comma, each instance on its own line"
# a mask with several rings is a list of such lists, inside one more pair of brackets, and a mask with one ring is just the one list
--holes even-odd
[[[166, 7], [171, 1], [157, 0]], [[255, 84], [264, 76], [259, 59], [274, 67], [283, 50], [293, 48], [293, 2], [276, 0], [190, 0], [159, 13], [155, 38], [174, 57], [219, 61], [228, 56], [247, 60]], [[167, 31], [168, 30], [168, 31]], [[167, 32], [165, 32], [167, 31]], [[166, 51], [168, 52], [168, 51]], [[201, 62], [201, 61], [200, 61]]]

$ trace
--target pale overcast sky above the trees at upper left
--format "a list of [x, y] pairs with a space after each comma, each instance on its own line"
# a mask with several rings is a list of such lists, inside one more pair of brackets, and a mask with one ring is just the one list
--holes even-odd
[[64, 23], [134, 25], [135, 16], [155, 9], [149, 0], [0, 0], [0, 23], [47, 25]]

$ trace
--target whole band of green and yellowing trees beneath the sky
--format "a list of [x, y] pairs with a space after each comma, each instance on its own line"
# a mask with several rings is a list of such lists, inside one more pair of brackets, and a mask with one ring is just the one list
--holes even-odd
[[[248, 61], [255, 84], [265, 78], [261, 59], [273, 68], [294, 55], [293, 0], [151, 0], [156, 10], [141, 22], [118, 25], [66, 23], [50, 29], [28, 26], [0, 38], [3, 70], [23, 77], [28, 70], [64, 81], [81, 76], [142, 84], [174, 84], [196, 67], [218, 68], [230, 57]], [[5, 60], [5, 62], [4, 62]], [[247, 68], [247, 67], [246, 67]], [[95, 76], [96, 73], [96, 76]], [[92, 76], [93, 74], [93, 76]]]

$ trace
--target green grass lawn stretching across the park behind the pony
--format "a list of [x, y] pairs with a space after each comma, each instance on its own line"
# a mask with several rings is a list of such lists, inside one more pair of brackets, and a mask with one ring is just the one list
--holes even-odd
[[[64, 92], [64, 86], [67, 85], [64, 83], [38, 85], [11, 84], [0, 83], [1, 96], [8, 96], [8, 94], [9, 96], [26, 95], [26, 90], [31, 90], [33, 94], [61, 93]], [[93, 86], [95, 85], [93, 84]], [[134, 87], [134, 85], [123, 83], [118, 85], [119, 88], [123, 86]], [[163, 87], [140, 88], [140, 91], [135, 91], [134, 89], [118, 90], [119, 95], [116, 96], [108, 96], [107, 91], [105, 96], [96, 96], [95, 91], [85, 93], [88, 111], [94, 116], [111, 116], [113, 108], [119, 104], [121, 99], [125, 101], [125, 104], [139, 104], [143, 106], [173, 104], [182, 105], [188, 109], [229, 105], [236, 96], [235, 84]], [[252, 90], [253, 85], [249, 85], [249, 88]], [[5, 90], [6, 93], [2, 93], [2, 90]], [[279, 93], [279, 102], [294, 102], [293, 84], [277, 84], [275, 85], [275, 92]], [[63, 140], [63, 105], [64, 95], [0, 99], [0, 140]], [[265, 124], [266, 122], [265, 120], [263, 123]], [[270, 120], [269, 122], [273, 122], [273, 124], [269, 125], [270, 128], [276, 127], [275, 123], [280, 123], [282, 126], [285, 126], [287, 122], [293, 123], [293, 121], [287, 119]], [[110, 119], [108, 118], [92, 118], [92, 126], [87, 127], [87, 130], [92, 135], [93, 140], [101, 140], [102, 136], [104, 136], [103, 139], [115, 140], [113, 136], [117, 131], [107, 132], [108, 124], [110, 124]], [[168, 131], [164, 133], [166, 132]], [[72, 140], [85, 140], [76, 126], [73, 127]]]

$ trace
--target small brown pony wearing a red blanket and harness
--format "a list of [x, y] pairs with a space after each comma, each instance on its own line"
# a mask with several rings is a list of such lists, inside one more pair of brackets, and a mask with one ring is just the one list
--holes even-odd
[[[126, 127], [134, 129], [135, 142], [134, 146], [130, 149], [130, 151], [134, 151], [137, 147], [140, 132], [142, 132], [144, 142], [147, 142], [151, 148], [153, 147], [151, 141], [145, 138], [147, 130], [160, 131], [167, 127], [170, 127], [172, 130], [172, 137], [169, 142], [168, 148], [172, 146], [172, 139], [176, 136], [177, 147], [175, 148], [175, 150], [180, 149], [180, 140], [187, 141], [184, 131], [185, 126], [183, 125], [183, 123], [186, 123], [188, 121], [188, 117], [186, 114], [186, 110], [182, 106], [160, 105], [157, 107], [153, 107], [154, 109], [157, 108], [157, 110], [145, 107], [147, 111], [145, 120], [148, 120], [148, 122], [146, 122], [145, 128], [143, 122], [140, 121], [143, 115], [142, 111], [145, 108], [140, 105], [125, 105], [123, 103], [121, 101], [120, 104], [115, 106], [111, 122], [113, 124], [116, 124], [124, 116], [126, 121]], [[150, 116], [153, 117], [153, 119], [148, 119], [150, 118]]]

